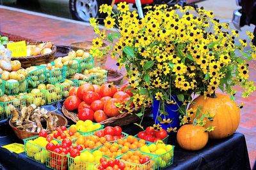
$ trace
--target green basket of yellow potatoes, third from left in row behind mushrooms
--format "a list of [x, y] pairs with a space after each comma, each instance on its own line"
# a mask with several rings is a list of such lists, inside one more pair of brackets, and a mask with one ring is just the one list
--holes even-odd
[[62, 100], [62, 88], [60, 85], [54, 85], [52, 89], [42, 90], [45, 95], [45, 103], [52, 104]]

